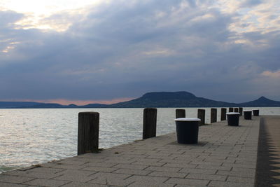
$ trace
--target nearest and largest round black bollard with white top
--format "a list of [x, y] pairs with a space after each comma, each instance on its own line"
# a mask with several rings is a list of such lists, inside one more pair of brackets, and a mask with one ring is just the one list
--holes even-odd
[[199, 118], [176, 118], [176, 133], [179, 144], [197, 144]]

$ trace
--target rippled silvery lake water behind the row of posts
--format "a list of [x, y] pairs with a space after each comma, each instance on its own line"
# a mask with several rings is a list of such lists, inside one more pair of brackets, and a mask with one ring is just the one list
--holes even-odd
[[[143, 109], [0, 109], [0, 172], [76, 155], [80, 111], [100, 113], [99, 148], [142, 137]], [[260, 108], [260, 115], [280, 115], [280, 108]], [[174, 108], [158, 109], [157, 135], [175, 131], [174, 116]], [[197, 108], [186, 116], [197, 117]]]

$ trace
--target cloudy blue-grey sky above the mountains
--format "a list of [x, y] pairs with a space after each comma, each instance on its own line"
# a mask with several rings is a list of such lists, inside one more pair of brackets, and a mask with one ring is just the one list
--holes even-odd
[[1, 0], [0, 101], [280, 101], [279, 0]]

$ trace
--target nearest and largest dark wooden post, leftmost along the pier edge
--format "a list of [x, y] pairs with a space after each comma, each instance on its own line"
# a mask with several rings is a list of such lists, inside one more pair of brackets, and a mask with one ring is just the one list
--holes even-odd
[[78, 113], [78, 155], [98, 153], [99, 113]]

